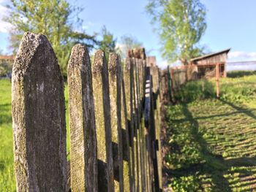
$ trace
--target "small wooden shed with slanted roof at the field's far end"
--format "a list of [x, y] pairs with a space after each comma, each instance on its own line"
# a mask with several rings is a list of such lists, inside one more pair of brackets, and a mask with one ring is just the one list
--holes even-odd
[[230, 48], [219, 51], [217, 53], [210, 53], [197, 58], [192, 58], [190, 64], [196, 65], [198, 70], [198, 77], [214, 77], [216, 64], [219, 64], [219, 75], [220, 77], [226, 77], [226, 61], [227, 53]]

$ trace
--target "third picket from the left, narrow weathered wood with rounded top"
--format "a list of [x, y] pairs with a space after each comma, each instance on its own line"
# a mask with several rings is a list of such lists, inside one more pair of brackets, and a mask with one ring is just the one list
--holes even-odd
[[92, 81], [97, 133], [99, 191], [114, 191], [108, 64], [102, 50], [98, 50], [94, 55]]

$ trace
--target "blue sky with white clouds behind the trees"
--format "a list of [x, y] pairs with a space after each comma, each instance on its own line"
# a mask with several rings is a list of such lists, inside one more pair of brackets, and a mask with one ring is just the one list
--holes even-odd
[[[79, 17], [87, 33], [99, 32], [106, 26], [114, 37], [120, 39], [125, 34], [136, 37], [146, 48], [148, 55], [157, 56], [161, 67], [168, 63], [161, 57], [161, 44], [150, 17], [146, 14], [147, 1], [138, 0], [68, 0], [70, 4], [83, 7]], [[256, 1], [255, 0], [201, 0], [206, 5], [207, 29], [200, 45], [206, 45], [211, 52], [231, 51], [228, 61], [256, 61]], [[7, 15], [4, 4], [9, 0], [0, 0], [0, 50], [8, 53], [8, 28], [2, 20]]]

